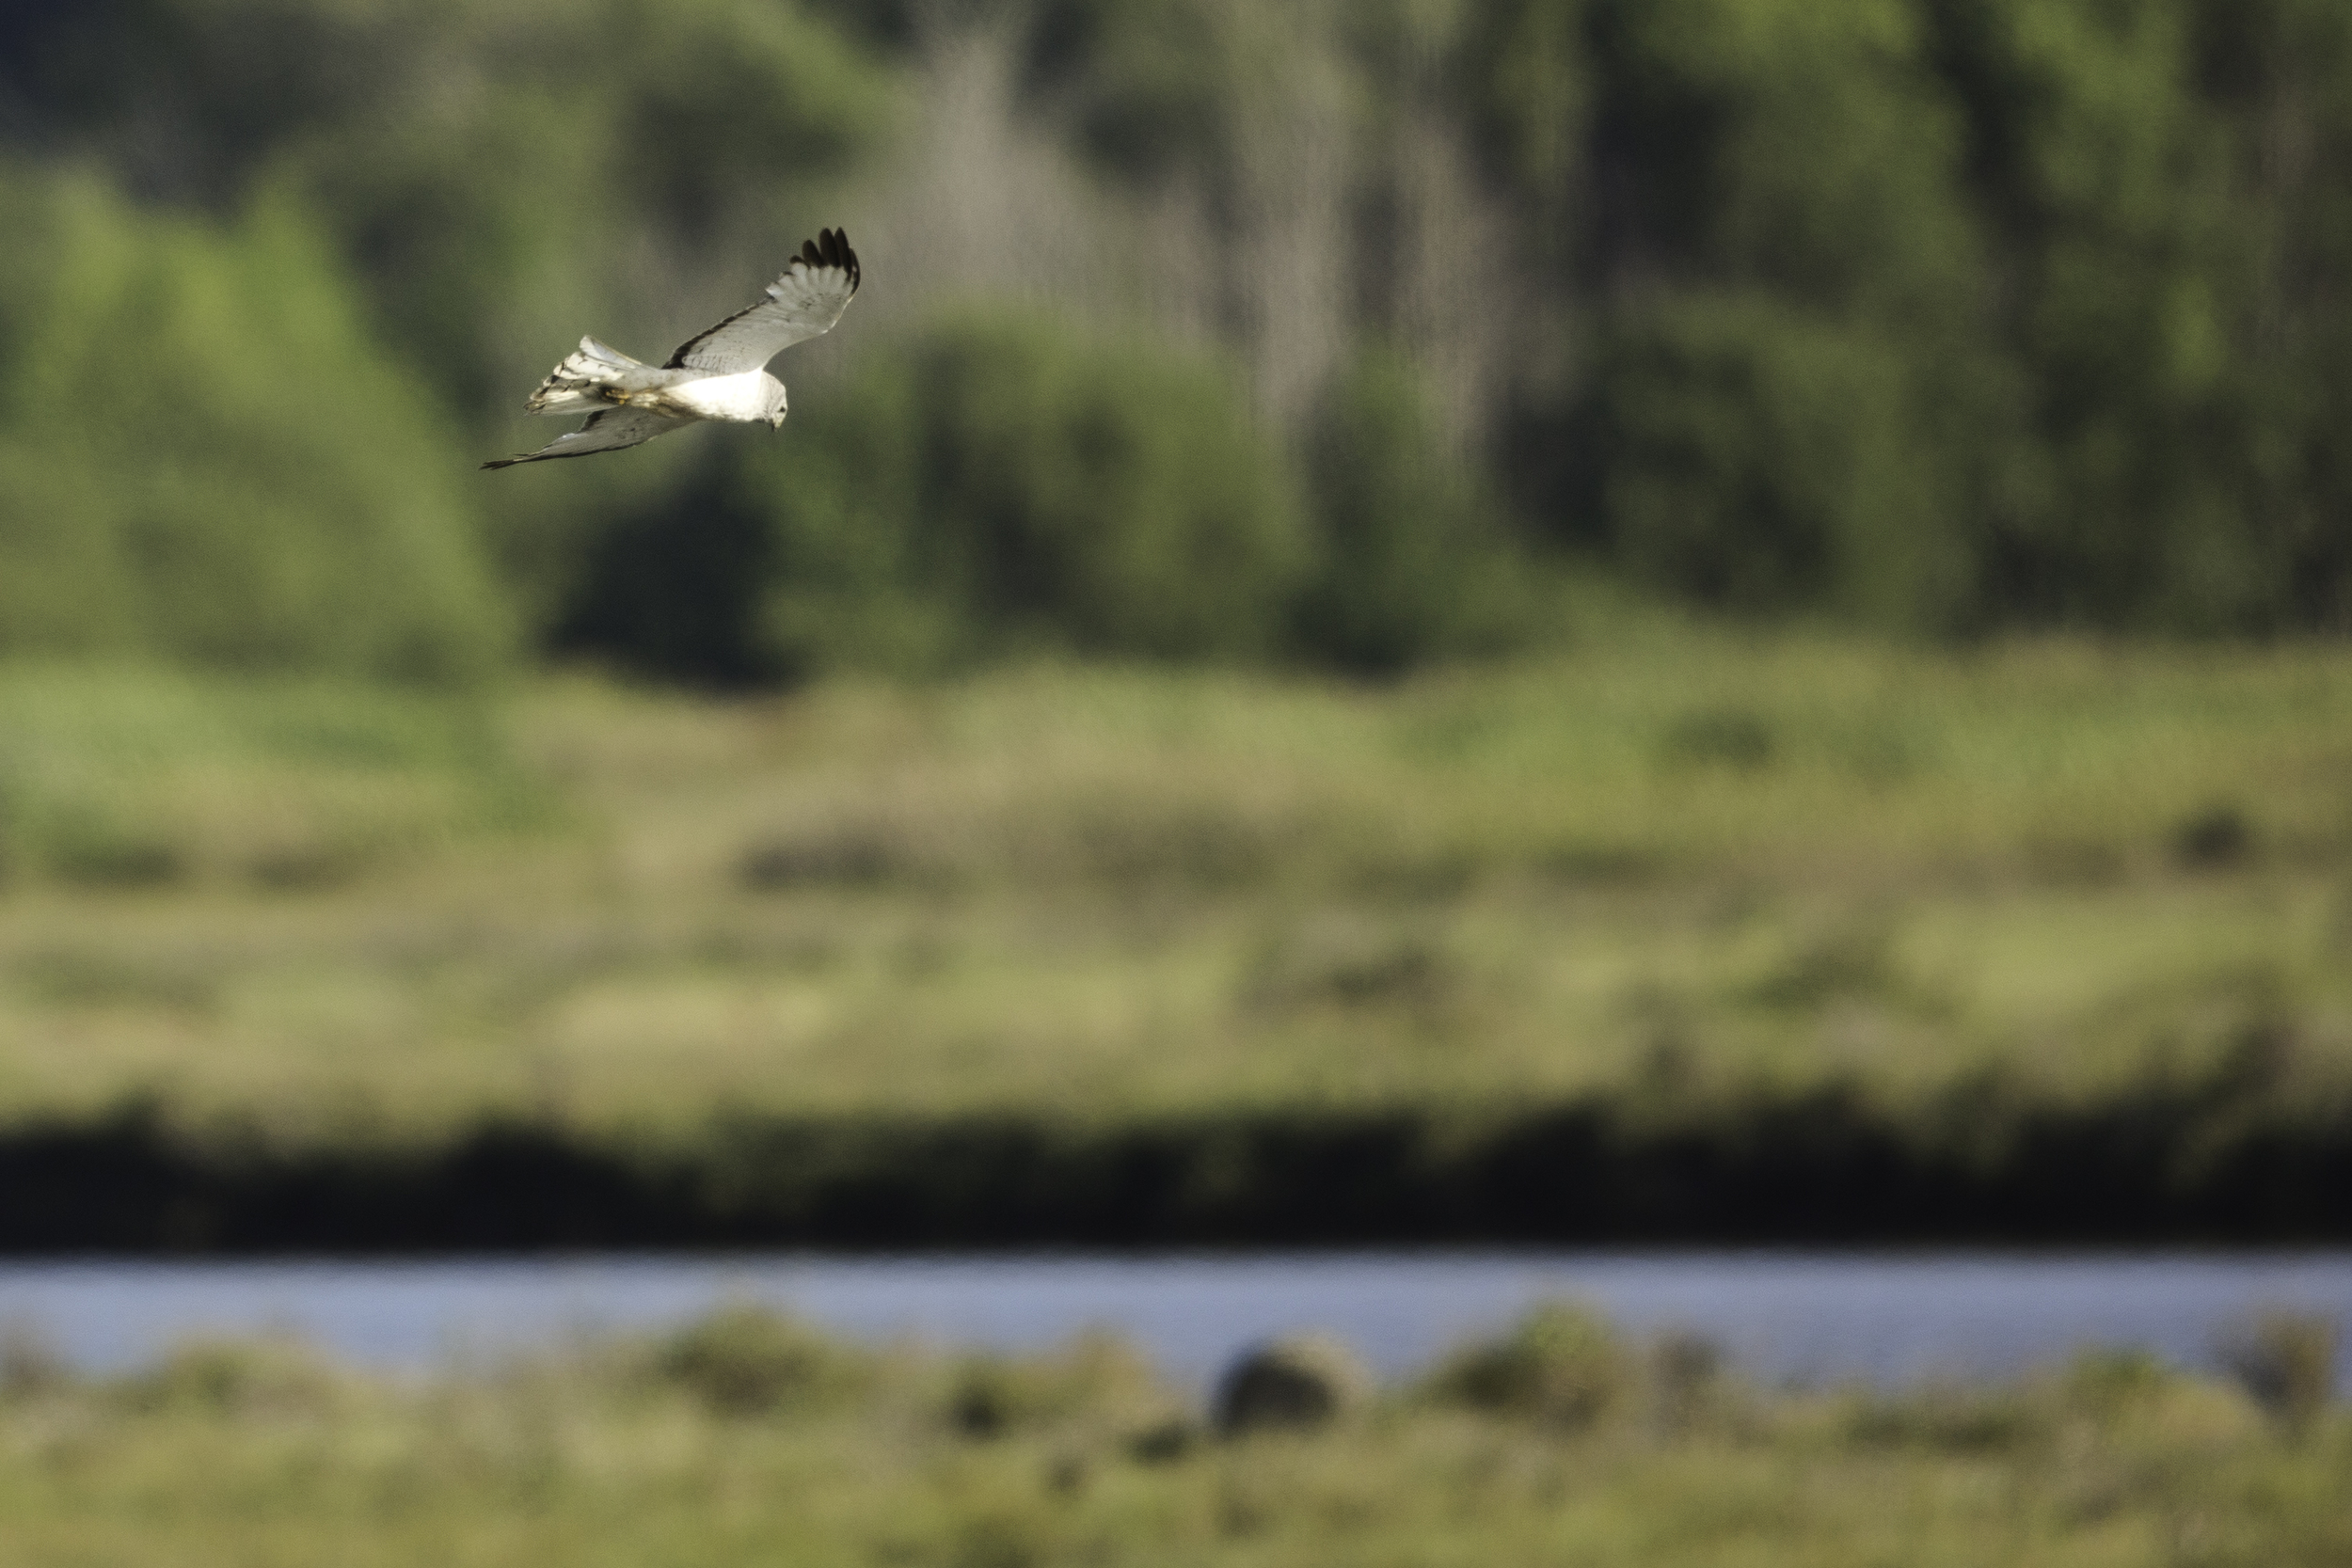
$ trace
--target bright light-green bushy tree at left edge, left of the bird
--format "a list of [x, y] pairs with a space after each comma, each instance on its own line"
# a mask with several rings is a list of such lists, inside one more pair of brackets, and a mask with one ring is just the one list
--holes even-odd
[[308, 219], [214, 228], [0, 181], [0, 654], [463, 682], [508, 649], [463, 463]]

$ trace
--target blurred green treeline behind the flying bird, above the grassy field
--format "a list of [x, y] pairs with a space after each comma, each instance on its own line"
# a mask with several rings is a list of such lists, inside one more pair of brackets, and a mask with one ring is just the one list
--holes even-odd
[[[0, 136], [0, 651], [2352, 623], [2338, 0], [96, 0]], [[821, 221], [783, 437], [468, 473]]]

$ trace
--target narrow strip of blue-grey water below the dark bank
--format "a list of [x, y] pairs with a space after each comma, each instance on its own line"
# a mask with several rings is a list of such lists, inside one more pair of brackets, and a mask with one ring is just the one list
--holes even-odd
[[[2352, 1340], [2352, 1253], [1310, 1253], [917, 1258], [452, 1258], [0, 1262], [0, 1324], [87, 1368], [195, 1333], [292, 1331], [350, 1361], [430, 1368], [677, 1324], [724, 1300], [863, 1340], [1037, 1349], [1112, 1328], [1200, 1385], [1275, 1333], [1336, 1333], [1404, 1375], [1545, 1298], [1686, 1328], [1769, 1382], [1997, 1378], [2089, 1345], [2211, 1366], [2260, 1309]], [[2338, 1368], [2343, 1371], [2343, 1368]]]

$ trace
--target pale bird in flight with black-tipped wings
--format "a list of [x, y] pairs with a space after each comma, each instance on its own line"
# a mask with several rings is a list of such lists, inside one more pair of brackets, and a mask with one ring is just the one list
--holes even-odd
[[767, 284], [767, 299], [694, 334], [668, 364], [630, 360], [581, 339], [579, 353], [539, 383], [522, 411], [586, 414], [588, 423], [539, 451], [492, 458], [482, 468], [619, 451], [699, 418], [767, 423], [774, 430], [783, 425], [783, 383], [767, 374], [767, 362], [793, 343], [833, 331], [856, 292], [858, 254], [849, 249], [847, 233], [826, 228], [800, 247], [783, 277]]

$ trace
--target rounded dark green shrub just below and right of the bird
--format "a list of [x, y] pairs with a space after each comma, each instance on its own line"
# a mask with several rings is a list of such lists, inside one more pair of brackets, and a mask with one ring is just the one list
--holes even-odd
[[600, 548], [576, 646], [706, 682], [1279, 644], [1308, 538], [1214, 362], [985, 313], [875, 346]]

